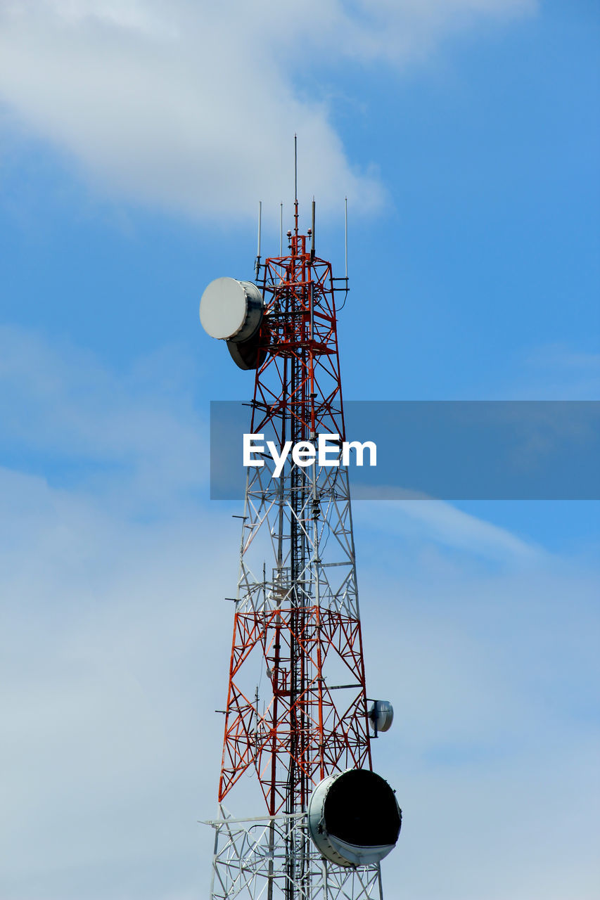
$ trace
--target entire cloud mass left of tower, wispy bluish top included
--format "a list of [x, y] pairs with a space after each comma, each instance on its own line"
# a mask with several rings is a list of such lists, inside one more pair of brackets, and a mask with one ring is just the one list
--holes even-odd
[[210, 855], [239, 536], [196, 496], [190, 366], [117, 374], [12, 327], [0, 347], [0, 895], [183, 900]]

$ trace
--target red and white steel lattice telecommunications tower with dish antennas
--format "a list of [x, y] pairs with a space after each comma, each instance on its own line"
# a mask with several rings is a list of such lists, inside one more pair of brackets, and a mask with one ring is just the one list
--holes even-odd
[[[348, 275], [315, 255], [314, 202], [304, 235], [295, 200], [287, 244], [261, 262], [259, 212], [255, 282], [218, 278], [200, 303], [208, 334], [255, 372], [252, 434], [278, 454], [337, 436], [329, 465], [288, 456], [275, 477], [264, 453], [248, 469], [211, 898], [382, 900], [379, 864], [402, 814], [371, 762], [370, 732], [393, 710], [367, 698], [341, 460], [335, 298]], [[250, 794], [254, 814], [236, 817], [235, 797]]]

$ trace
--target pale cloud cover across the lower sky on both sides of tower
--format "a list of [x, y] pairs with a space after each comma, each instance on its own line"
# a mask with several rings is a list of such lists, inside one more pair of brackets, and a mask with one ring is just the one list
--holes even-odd
[[[52, 448], [61, 464], [131, 469], [93, 489], [0, 470], [0, 895], [198, 896], [212, 834], [196, 820], [214, 815], [213, 710], [231, 649], [223, 597], [240, 523], [190, 500], [192, 451], [176, 476], [154, 437], [204, 439], [182, 383], [161, 383], [165, 366], [119, 377], [73, 348], [51, 352], [14, 329], [5, 338], [0, 395], [22, 406], [5, 437], [23, 457], [41, 448], [51, 482]], [[137, 473], [149, 465], [177, 491], [143, 517]], [[386, 896], [592, 900], [595, 574], [446, 504], [398, 507], [355, 509], [369, 696], [396, 713], [374, 763], [405, 810]], [[482, 555], [510, 564], [482, 568]]]

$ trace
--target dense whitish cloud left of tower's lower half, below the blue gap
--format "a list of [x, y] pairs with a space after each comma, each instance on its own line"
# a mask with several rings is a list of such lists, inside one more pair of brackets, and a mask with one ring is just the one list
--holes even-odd
[[210, 851], [196, 820], [215, 806], [234, 580], [233, 533], [223, 549], [210, 534], [230, 525], [136, 523], [6, 471], [0, 493], [0, 894], [191, 891]]

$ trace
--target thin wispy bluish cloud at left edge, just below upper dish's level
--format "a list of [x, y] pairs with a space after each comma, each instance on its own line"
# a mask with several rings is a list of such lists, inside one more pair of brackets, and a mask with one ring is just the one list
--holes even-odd
[[[207, 439], [193, 408], [192, 366], [176, 347], [117, 374], [67, 343], [0, 326], [0, 444], [56, 482], [60, 473], [88, 487], [121, 471], [132, 498], [168, 501], [199, 487]], [[107, 468], [108, 467], [108, 468]]]

